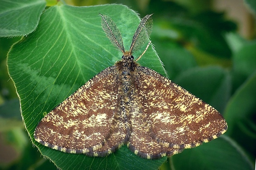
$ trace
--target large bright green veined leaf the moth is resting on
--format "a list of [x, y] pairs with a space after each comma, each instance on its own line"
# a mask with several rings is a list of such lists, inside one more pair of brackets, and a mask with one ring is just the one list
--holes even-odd
[[[7, 57], [8, 71], [19, 94], [26, 130], [43, 156], [61, 169], [157, 169], [166, 157], [155, 161], [141, 159], [126, 146], [104, 158], [67, 154], [40, 145], [33, 138], [38, 122], [46, 113], [121, 59], [122, 54], [101, 28], [99, 13], [114, 20], [128, 49], [140, 20], [123, 5], [52, 6], [40, 16], [37, 30], [12, 46]], [[144, 49], [133, 56], [136, 58]], [[151, 47], [138, 62], [165, 73]]]

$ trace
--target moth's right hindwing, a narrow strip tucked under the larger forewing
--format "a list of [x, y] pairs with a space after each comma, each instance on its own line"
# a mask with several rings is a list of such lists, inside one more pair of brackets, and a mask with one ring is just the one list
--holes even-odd
[[143, 112], [143, 101], [138, 98], [138, 91], [132, 88], [129, 100], [130, 140], [129, 149], [136, 155], [147, 159], [159, 159], [163, 156], [178, 154], [182, 149], [164, 147], [151, 136], [151, 129], [147, 123], [147, 112]]

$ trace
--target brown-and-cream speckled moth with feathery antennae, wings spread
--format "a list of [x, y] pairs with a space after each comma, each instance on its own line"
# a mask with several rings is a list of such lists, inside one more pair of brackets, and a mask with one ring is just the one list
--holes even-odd
[[[37, 142], [88, 156], [107, 156], [127, 145], [141, 158], [159, 159], [225, 133], [227, 123], [216, 109], [137, 63], [151, 43], [152, 14], [140, 21], [129, 51], [114, 21], [100, 16], [107, 38], [123, 56], [43, 117], [34, 132]], [[134, 60], [132, 54], [146, 42]]]

